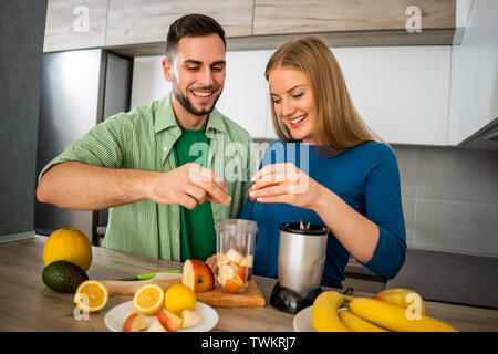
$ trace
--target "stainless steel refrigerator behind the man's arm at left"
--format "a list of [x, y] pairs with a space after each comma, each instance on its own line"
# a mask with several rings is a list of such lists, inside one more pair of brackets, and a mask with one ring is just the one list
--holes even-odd
[[[37, 178], [43, 167], [96, 124], [129, 110], [133, 60], [102, 49], [43, 54]], [[96, 226], [106, 210], [61, 209], [37, 200], [39, 235], [71, 226], [98, 243]]]

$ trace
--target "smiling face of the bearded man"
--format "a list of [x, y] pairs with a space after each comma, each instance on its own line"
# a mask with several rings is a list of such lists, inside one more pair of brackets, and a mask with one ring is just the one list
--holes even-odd
[[175, 114], [181, 126], [195, 128], [206, 123], [224, 88], [225, 66], [225, 45], [217, 34], [184, 37], [176, 45], [173, 62], [163, 61], [164, 75], [173, 85]]

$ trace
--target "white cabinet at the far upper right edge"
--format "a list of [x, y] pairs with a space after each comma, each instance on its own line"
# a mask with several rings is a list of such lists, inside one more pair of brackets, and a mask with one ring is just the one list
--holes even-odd
[[[461, 43], [452, 48], [452, 101], [448, 129], [452, 145], [473, 144], [480, 138], [476, 133], [486, 131], [486, 127], [495, 126], [496, 131], [498, 117], [497, 13], [498, 1], [474, 1]], [[497, 149], [496, 140], [494, 145], [487, 146]]]

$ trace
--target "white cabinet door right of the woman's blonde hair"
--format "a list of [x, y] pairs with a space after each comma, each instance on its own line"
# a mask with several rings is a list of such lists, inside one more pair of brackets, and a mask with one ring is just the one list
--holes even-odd
[[332, 49], [364, 122], [395, 144], [446, 145], [449, 46]]

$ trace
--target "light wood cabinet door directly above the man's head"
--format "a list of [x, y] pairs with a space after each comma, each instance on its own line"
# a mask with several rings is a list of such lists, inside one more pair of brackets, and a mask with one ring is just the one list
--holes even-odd
[[251, 34], [252, 0], [110, 0], [106, 45], [165, 42], [169, 25], [188, 13], [212, 17], [227, 37]]

